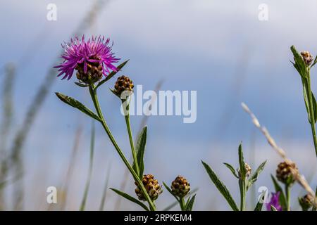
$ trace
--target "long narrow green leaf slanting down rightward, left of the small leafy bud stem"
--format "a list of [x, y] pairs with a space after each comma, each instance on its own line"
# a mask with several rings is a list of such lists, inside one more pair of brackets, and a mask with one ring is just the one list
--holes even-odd
[[211, 169], [209, 165], [207, 165], [204, 161], [201, 162], [204, 165], [206, 172], [209, 174], [211, 181], [213, 181], [213, 184], [215, 184], [216, 188], [218, 188], [218, 191], [220, 191], [225, 200], [227, 200], [232, 210], [239, 211], [237, 205], [235, 204], [235, 200], [233, 200], [230, 192], [228, 191], [228, 188], [223, 184], [223, 182], [220, 181], [218, 176], [215, 174], [215, 172], [213, 172], [213, 169]]

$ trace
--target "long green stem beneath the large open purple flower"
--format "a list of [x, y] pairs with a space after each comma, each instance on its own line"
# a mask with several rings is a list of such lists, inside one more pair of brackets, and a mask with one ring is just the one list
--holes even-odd
[[150, 207], [151, 211], [155, 211], [156, 207], [155, 207], [154, 203], [152, 202], [151, 198], [149, 197], [147, 190], [145, 190], [144, 185], [142, 184], [142, 181], [139, 179], [139, 176], [137, 176], [137, 174], [135, 173], [135, 170], [131, 167], [128, 160], [125, 158], [125, 155], [123, 154], [122, 150], [120, 150], [118, 143], [116, 142], [116, 139], [114, 139], [113, 135], [111, 134], [110, 129], [108, 128], [108, 125], [106, 124], [106, 120], [104, 120], [104, 115], [101, 113], [101, 108], [99, 105], [96, 89], [94, 89], [93, 85], [89, 86], [89, 93], [90, 93], [90, 96], [92, 97], [92, 101], [94, 103], [94, 108], [96, 108], [97, 114], [101, 119], [101, 125], [102, 125], [102, 127], [104, 127], [104, 130], [106, 131], [106, 134], [108, 135], [108, 138], [110, 139], [113, 146], [116, 148], [116, 151], [120, 155], [120, 158], [123, 160], [125, 166], [128, 167], [130, 173], [133, 176], [133, 179], [135, 179], [135, 181], [137, 181], [137, 184], [142, 189], [142, 192], [144, 193], [144, 197], [147, 199], [147, 202], [149, 203], [149, 207]]

